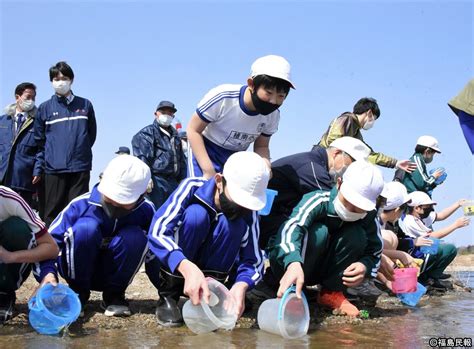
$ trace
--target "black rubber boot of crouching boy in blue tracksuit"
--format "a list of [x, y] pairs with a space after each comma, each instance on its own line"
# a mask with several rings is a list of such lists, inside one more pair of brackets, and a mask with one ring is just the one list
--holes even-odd
[[184, 278], [160, 269], [160, 299], [156, 307], [156, 321], [165, 327], [183, 325], [183, 317], [178, 307], [179, 297], [183, 292]]

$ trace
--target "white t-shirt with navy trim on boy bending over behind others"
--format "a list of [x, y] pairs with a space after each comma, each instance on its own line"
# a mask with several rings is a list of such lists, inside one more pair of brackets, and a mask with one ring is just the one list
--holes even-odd
[[270, 137], [278, 130], [280, 111], [261, 115], [244, 104], [247, 86], [220, 85], [199, 102], [196, 113], [209, 124], [202, 135], [224, 149], [247, 150], [258, 136]]

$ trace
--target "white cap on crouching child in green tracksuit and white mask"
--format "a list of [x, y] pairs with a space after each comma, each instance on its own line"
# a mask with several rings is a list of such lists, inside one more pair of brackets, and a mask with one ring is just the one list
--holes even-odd
[[342, 176], [339, 190], [354, 206], [372, 211], [383, 185], [382, 172], [378, 168], [367, 161], [354, 161]]

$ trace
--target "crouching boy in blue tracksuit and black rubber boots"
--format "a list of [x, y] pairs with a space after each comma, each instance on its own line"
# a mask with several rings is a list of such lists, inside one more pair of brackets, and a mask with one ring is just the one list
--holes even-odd
[[199, 304], [201, 295], [208, 302], [205, 275], [223, 282], [234, 263], [237, 272], [230, 292], [237, 302], [237, 313], [243, 312], [245, 293], [262, 273], [254, 222], [255, 211], [265, 206], [269, 176], [262, 157], [237, 152], [213, 178], [184, 180], [157, 210], [148, 235], [157, 258], [155, 264], [147, 265], [147, 273], [160, 294], [156, 309], [159, 324], [181, 325], [180, 295], [184, 292], [193, 304]]

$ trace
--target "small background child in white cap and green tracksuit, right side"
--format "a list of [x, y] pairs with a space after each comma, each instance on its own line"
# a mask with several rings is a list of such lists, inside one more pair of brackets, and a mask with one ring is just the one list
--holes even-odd
[[421, 136], [418, 138], [415, 147], [415, 154], [410, 158], [416, 164], [416, 170], [411, 173], [400, 172], [395, 175], [401, 177], [401, 182], [409, 193], [414, 191], [431, 192], [436, 187], [436, 179], [443, 174], [442, 170], [436, 170], [432, 175], [428, 174], [426, 164], [433, 161], [436, 153], [441, 154], [438, 141], [432, 136]]

